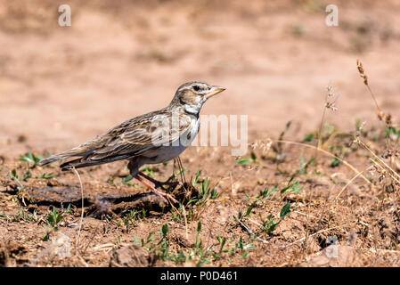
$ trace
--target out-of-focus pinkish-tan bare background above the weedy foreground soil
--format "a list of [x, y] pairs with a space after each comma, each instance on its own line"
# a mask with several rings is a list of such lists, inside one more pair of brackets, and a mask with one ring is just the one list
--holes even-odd
[[[60, 27], [61, 4], [71, 26]], [[339, 7], [339, 27], [325, 7]], [[227, 87], [203, 114], [248, 114], [249, 138], [375, 122], [400, 105], [398, 1], [0, 1], [0, 154], [63, 151], [165, 107], [186, 81]], [[293, 134], [295, 135], [295, 134]]]

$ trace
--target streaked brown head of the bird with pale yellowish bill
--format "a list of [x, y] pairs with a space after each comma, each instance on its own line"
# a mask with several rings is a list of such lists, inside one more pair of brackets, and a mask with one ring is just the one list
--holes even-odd
[[180, 104], [188, 113], [198, 114], [204, 102], [224, 90], [224, 87], [200, 81], [188, 82], [179, 86], [171, 104]]

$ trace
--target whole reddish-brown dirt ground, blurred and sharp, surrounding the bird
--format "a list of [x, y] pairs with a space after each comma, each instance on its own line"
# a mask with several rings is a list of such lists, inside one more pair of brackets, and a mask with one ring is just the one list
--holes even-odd
[[[60, 4], [0, 1], [0, 266], [399, 265], [400, 4], [68, 1], [70, 27]], [[392, 118], [377, 118], [356, 59]], [[173, 208], [126, 162], [79, 169], [81, 224], [77, 175], [36, 158], [165, 107], [191, 80], [227, 88], [201, 114], [248, 115], [249, 153], [189, 148], [197, 183]], [[320, 128], [328, 85], [338, 110]], [[301, 144], [277, 142], [289, 121], [281, 139]]]

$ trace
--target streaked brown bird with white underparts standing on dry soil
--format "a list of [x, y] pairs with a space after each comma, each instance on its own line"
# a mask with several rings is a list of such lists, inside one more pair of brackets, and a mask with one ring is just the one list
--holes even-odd
[[200, 110], [203, 104], [225, 89], [201, 81], [184, 83], [177, 88], [167, 107], [128, 119], [91, 141], [42, 159], [39, 165], [45, 166], [57, 160], [74, 158], [60, 165], [61, 170], [66, 171], [128, 160], [127, 168], [132, 177], [162, 199], [167, 197], [176, 203], [171, 195], [157, 190], [163, 189], [162, 186], [168, 181], [159, 182], [145, 175], [140, 168], [178, 158], [199, 133]]

